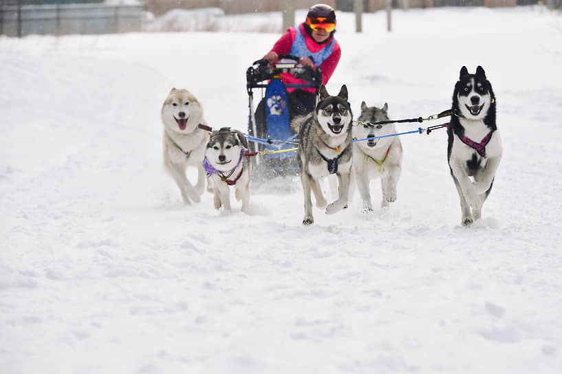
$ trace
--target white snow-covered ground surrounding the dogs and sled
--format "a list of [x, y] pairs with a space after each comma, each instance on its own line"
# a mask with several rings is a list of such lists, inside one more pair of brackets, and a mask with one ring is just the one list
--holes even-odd
[[427, 116], [462, 65], [482, 65], [504, 157], [470, 228], [442, 130], [402, 137], [384, 212], [362, 214], [355, 193], [303, 227], [296, 177], [256, 186], [250, 216], [208, 193], [182, 204], [162, 168], [164, 98], [187, 88], [210, 125], [246, 130], [246, 68], [279, 34], [0, 37], [0, 371], [559, 373], [562, 17], [394, 11], [391, 33], [385, 17], [356, 34], [338, 13], [327, 88], [345, 83], [356, 113]]

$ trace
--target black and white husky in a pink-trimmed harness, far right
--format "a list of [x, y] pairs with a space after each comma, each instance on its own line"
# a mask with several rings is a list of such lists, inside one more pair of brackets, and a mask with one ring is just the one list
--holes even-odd
[[476, 74], [468, 74], [465, 66], [460, 70], [453, 111], [448, 126], [448, 165], [459, 192], [461, 223], [470, 225], [482, 215], [501, 159], [495, 95], [481, 66]]

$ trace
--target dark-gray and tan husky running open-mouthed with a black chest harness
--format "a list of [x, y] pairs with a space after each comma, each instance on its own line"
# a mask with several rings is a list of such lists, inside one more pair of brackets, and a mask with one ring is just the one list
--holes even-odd
[[316, 206], [324, 208], [326, 199], [319, 184], [320, 177], [338, 176], [338, 199], [326, 207], [326, 214], [334, 214], [347, 207], [349, 177], [352, 169], [352, 109], [347, 102], [347, 87], [343, 85], [338, 96], [329, 96], [326, 87], [320, 87], [320, 101], [316, 109], [293, 120], [292, 128], [299, 129], [299, 164], [305, 198], [303, 225], [314, 223], [311, 190]]

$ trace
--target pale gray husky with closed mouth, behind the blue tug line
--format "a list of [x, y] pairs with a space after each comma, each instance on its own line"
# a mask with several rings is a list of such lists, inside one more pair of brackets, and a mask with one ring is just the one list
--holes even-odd
[[[388, 121], [388, 104], [367, 107], [361, 102], [361, 115], [353, 127], [353, 137], [361, 140], [353, 144], [353, 170], [357, 188], [363, 200], [363, 212], [372, 212], [369, 182], [380, 177], [382, 188], [381, 208], [388, 208], [396, 201], [396, 184], [402, 173], [402, 143], [398, 136], [381, 137], [396, 133], [396, 126], [389, 124], [372, 124]], [[380, 137], [380, 138], [378, 138]]]

